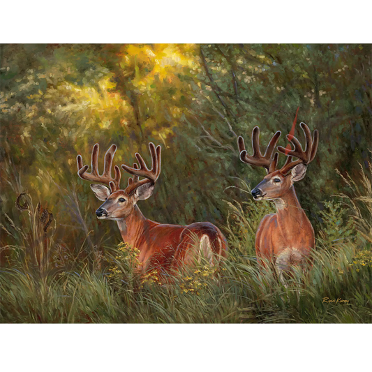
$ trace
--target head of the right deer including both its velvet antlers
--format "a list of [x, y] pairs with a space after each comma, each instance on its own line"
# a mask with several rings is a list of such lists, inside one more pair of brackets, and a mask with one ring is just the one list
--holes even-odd
[[[279, 199], [285, 195], [290, 188], [292, 188], [295, 182], [304, 179], [308, 164], [315, 158], [318, 149], [319, 135], [318, 131], [315, 130], [312, 140], [311, 131], [308, 126], [304, 123], [301, 123], [300, 126], [306, 137], [306, 149], [302, 149], [302, 146], [296, 137], [287, 135], [288, 140], [292, 142], [295, 149], [288, 151], [287, 149], [278, 146], [278, 151], [288, 156], [287, 161], [280, 170], [276, 169], [279, 154], [276, 152], [275, 155], [272, 156], [276, 143], [281, 136], [280, 131], [276, 132], [274, 137], [271, 138], [264, 156], [262, 156], [260, 151], [260, 129], [258, 126], [253, 128], [252, 133], [253, 156], [247, 155], [244, 139], [243, 137], [239, 137], [238, 146], [241, 161], [247, 164], [261, 166], [267, 170], [267, 175], [264, 177], [262, 182], [252, 190], [252, 195], [255, 200]], [[292, 157], [296, 157], [297, 160], [292, 161]]]

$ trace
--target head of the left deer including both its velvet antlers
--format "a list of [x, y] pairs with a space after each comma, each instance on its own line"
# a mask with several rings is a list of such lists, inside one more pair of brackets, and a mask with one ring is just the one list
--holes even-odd
[[[152, 159], [151, 170], [147, 168], [142, 156], [137, 153], [135, 157], [140, 166], [137, 163], [133, 164], [133, 168], [121, 165], [121, 168], [133, 175], [128, 179], [128, 186], [124, 190], [121, 190], [119, 186], [121, 172], [117, 165], [114, 167], [115, 175], [112, 178], [112, 161], [117, 151], [115, 144], [112, 144], [105, 154], [105, 168], [102, 175], [98, 173], [99, 144], [94, 145], [91, 153], [91, 173], [87, 173], [89, 165], [83, 165], [82, 156], [77, 156], [79, 177], [100, 183], [91, 184], [91, 189], [96, 197], [104, 201], [101, 207], [96, 210], [98, 219], [125, 220], [132, 213], [138, 200], [146, 200], [152, 195], [156, 180], [161, 173], [161, 146], [155, 147], [153, 143], [149, 143], [149, 149]], [[140, 180], [140, 177], [144, 177], [144, 179]]]

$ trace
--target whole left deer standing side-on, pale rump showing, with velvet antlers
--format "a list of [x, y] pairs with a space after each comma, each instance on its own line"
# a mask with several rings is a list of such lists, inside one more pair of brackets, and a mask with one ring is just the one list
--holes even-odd
[[112, 161], [117, 151], [115, 144], [105, 154], [102, 175], [98, 173], [98, 144], [94, 145], [91, 154], [90, 173], [87, 172], [89, 165], [83, 165], [82, 156], [77, 156], [79, 177], [99, 183], [91, 184], [96, 197], [104, 201], [96, 210], [97, 217], [117, 221], [122, 239], [140, 250], [138, 259], [142, 272], [156, 268], [169, 274], [182, 265], [193, 265], [201, 256], [207, 258], [210, 265], [216, 265], [227, 253], [226, 239], [216, 226], [208, 222], [188, 226], [157, 223], [145, 218], [138, 208], [139, 200], [146, 200], [152, 195], [161, 174], [161, 146], [155, 147], [150, 143], [149, 149], [151, 170], [140, 154], [135, 154], [139, 165], [134, 163], [133, 168], [121, 165], [123, 170], [133, 175], [124, 190], [120, 189], [121, 172], [117, 165], [112, 178]]

